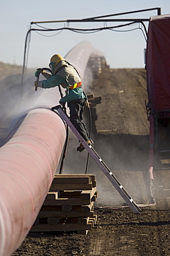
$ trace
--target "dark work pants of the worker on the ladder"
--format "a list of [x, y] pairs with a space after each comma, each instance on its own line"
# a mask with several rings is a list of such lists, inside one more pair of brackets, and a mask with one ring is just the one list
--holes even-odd
[[70, 108], [70, 121], [85, 141], [90, 140], [85, 124], [82, 122], [85, 99], [72, 100], [67, 102], [67, 105]]

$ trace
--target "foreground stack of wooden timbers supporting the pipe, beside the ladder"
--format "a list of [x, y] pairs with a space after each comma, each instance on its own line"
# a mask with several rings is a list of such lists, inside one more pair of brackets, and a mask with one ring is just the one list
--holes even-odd
[[94, 174], [56, 174], [30, 232], [86, 234], [96, 223]]

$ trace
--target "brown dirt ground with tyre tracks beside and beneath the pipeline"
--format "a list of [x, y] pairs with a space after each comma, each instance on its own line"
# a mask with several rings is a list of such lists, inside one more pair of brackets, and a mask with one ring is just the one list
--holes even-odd
[[[95, 96], [102, 96], [101, 104], [96, 105], [98, 120], [97, 133], [92, 134], [94, 149], [140, 205], [142, 212], [134, 214], [125, 207], [124, 200], [90, 159], [88, 172], [96, 174], [98, 190], [94, 208], [98, 220], [92, 232], [87, 235], [30, 232], [13, 255], [170, 255], [168, 161], [164, 165], [158, 159], [155, 161], [156, 204], [152, 204], [147, 196], [149, 122], [145, 111], [145, 69], [105, 68], [89, 90]], [[72, 143], [67, 154], [70, 148]], [[77, 154], [76, 149], [72, 154]], [[83, 173], [86, 158], [87, 154], [82, 152], [74, 162], [66, 160], [64, 173], [73, 170]]]

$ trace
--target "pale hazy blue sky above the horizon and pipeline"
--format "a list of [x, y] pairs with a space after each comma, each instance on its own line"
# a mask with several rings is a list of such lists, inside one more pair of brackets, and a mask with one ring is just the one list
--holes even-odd
[[[160, 7], [162, 15], [170, 13], [169, 0], [0, 0], [0, 62], [23, 64], [25, 36], [31, 21], [56, 21], [67, 19], [83, 19], [118, 12], [129, 12], [147, 8]], [[157, 15], [157, 11], [140, 12], [115, 18], [149, 18]], [[120, 23], [70, 23], [71, 28], [97, 28], [116, 26]], [[67, 23], [40, 24], [47, 28], [61, 28]], [[147, 26], [148, 23], [145, 23]], [[32, 26], [32, 28], [38, 28]], [[50, 57], [59, 53], [65, 56], [71, 48], [81, 41], [87, 40], [94, 48], [102, 51], [107, 64], [111, 68], [143, 68], [145, 37], [138, 25], [126, 26], [122, 30], [131, 32], [114, 32], [103, 30], [93, 34], [73, 33], [63, 30], [59, 32], [32, 31], [30, 39], [28, 67], [47, 66]], [[120, 30], [120, 29], [119, 29]], [[58, 35], [56, 35], [58, 34]]]

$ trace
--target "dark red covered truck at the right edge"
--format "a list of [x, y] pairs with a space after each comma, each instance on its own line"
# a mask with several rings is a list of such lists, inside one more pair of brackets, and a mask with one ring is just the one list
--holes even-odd
[[158, 15], [149, 20], [146, 70], [150, 122], [149, 184], [153, 188], [154, 154], [170, 158], [170, 15]]

